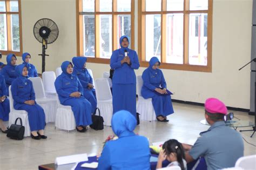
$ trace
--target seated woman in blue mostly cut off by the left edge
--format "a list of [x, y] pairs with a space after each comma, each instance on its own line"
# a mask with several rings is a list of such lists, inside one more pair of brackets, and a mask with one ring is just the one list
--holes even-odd
[[3, 121], [9, 120], [10, 113], [10, 102], [9, 99], [6, 98], [7, 88], [5, 84], [4, 77], [0, 75], [0, 128], [3, 133], [7, 133], [8, 130], [4, 126]]

